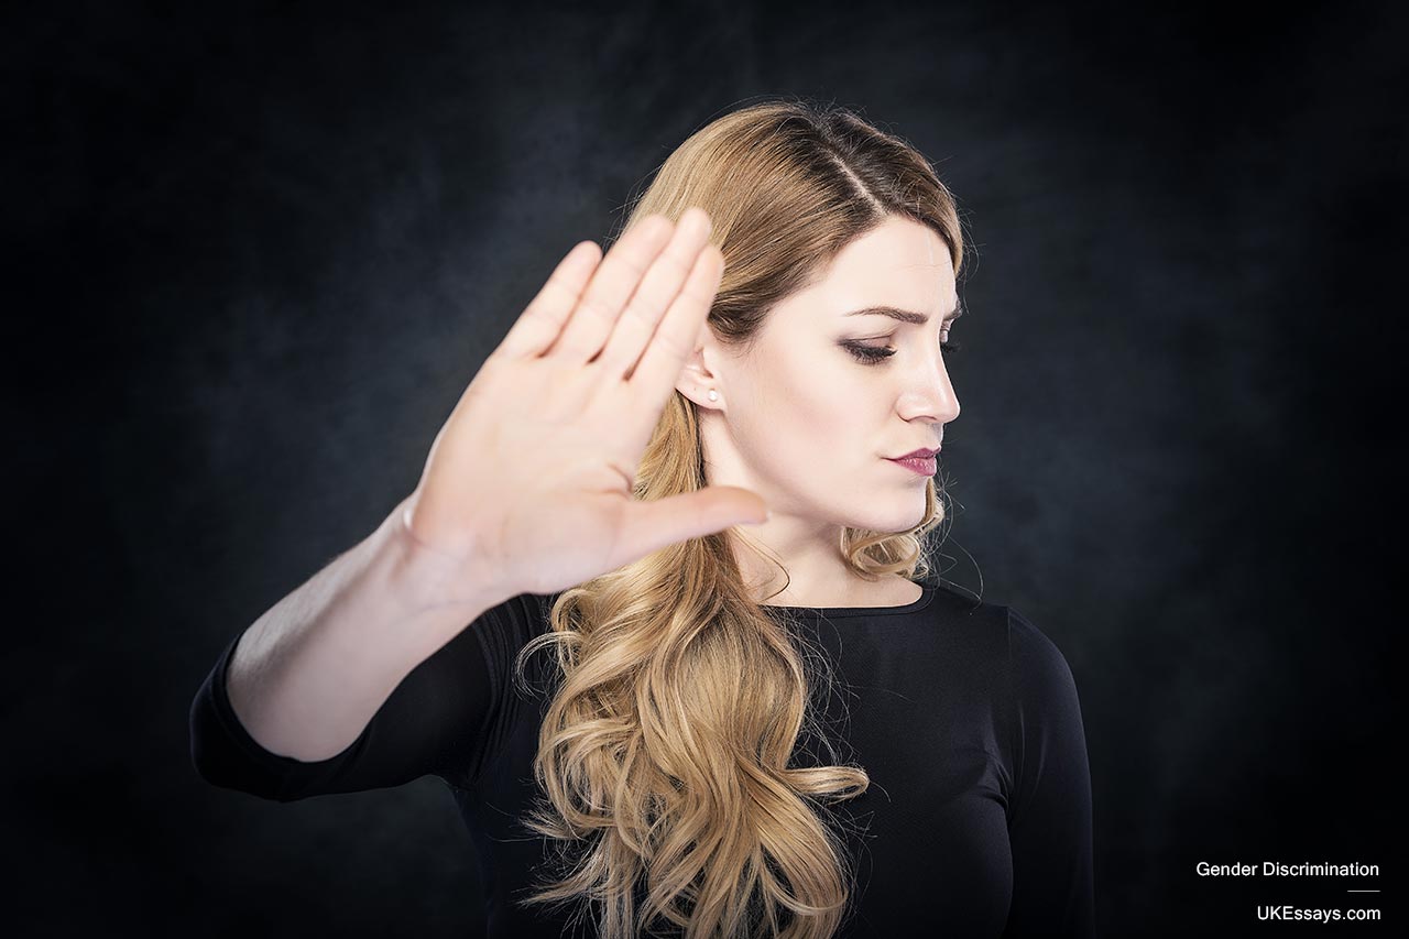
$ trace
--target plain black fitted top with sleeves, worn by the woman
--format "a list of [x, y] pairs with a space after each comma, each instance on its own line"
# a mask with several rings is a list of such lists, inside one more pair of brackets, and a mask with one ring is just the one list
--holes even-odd
[[[828, 740], [871, 777], [830, 806], [857, 876], [837, 935], [1093, 936], [1091, 775], [1067, 660], [1012, 608], [921, 588], [903, 606], [765, 608], [796, 615], [827, 656]], [[192, 702], [194, 766], [280, 802], [434, 774], [480, 856], [486, 935], [568, 935], [571, 908], [554, 918], [513, 904], [551, 857], [517, 823], [537, 794], [530, 763], [548, 695], [519, 692], [511, 670], [548, 627], [552, 599], [524, 594], [488, 610], [417, 665], [347, 750], [316, 763], [271, 753], [240, 725], [225, 694], [237, 636]], [[550, 660], [530, 657], [534, 688], [548, 685]]]

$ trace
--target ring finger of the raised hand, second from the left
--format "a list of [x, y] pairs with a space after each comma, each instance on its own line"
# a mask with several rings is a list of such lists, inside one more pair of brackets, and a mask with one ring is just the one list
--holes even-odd
[[651, 214], [621, 235], [592, 275], [586, 292], [568, 317], [566, 329], [548, 350], [548, 355], [583, 365], [595, 358], [674, 230], [669, 219]]

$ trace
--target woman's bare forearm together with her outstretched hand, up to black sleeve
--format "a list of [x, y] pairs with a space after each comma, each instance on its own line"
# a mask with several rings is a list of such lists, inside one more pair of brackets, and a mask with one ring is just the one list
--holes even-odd
[[737, 486], [650, 501], [631, 488], [719, 289], [709, 234], [690, 207], [678, 226], [648, 216], [604, 257], [573, 247], [461, 395], [416, 491], [230, 649], [234, 720], [204, 726], [227, 740], [242, 729], [261, 757], [331, 760], [492, 606], [761, 520], [762, 501]]

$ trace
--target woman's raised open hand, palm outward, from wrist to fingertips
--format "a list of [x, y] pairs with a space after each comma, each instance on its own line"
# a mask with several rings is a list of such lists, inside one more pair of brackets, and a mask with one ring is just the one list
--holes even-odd
[[485, 361], [406, 501], [410, 540], [454, 565], [445, 595], [552, 594], [662, 547], [761, 522], [707, 486], [654, 502], [635, 471], [724, 269], [710, 223], [648, 216], [606, 258], [572, 248]]

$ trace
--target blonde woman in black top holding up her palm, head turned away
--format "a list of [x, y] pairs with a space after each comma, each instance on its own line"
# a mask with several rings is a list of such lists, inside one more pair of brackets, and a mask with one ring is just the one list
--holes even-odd
[[1067, 663], [921, 553], [961, 257], [929, 162], [844, 109], [697, 131], [414, 492], [227, 646], [201, 775], [440, 775], [492, 936], [1093, 935]]

